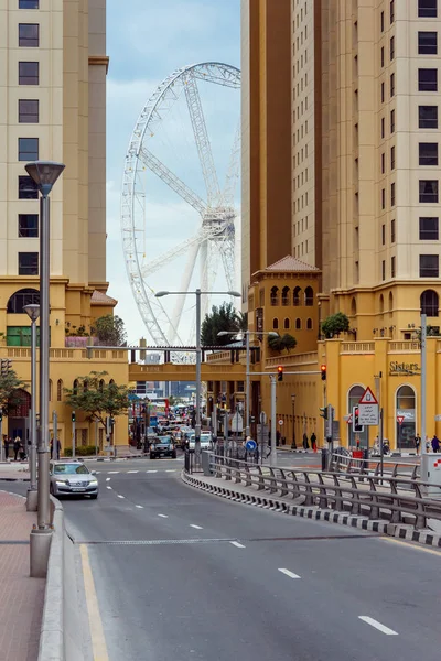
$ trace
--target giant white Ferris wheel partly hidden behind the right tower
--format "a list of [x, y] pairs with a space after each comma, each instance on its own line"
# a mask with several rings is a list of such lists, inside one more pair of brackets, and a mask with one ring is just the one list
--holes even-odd
[[[228, 291], [238, 289], [235, 196], [240, 161], [239, 89], [240, 72], [234, 66], [209, 62], [180, 68], [165, 78], [150, 97], [130, 139], [121, 195], [122, 249], [135, 301], [155, 346], [185, 346], [189, 342], [189, 314], [193, 314], [193, 311], [189, 313], [185, 310], [186, 296], [170, 296], [171, 307], [166, 306], [169, 301], [154, 296], [155, 291], [164, 289], [161, 274], [175, 273], [173, 289], [180, 292], [194, 291], [193, 280], [194, 286], [202, 291], [213, 291], [218, 278], [224, 279]], [[233, 95], [233, 101], [226, 107], [228, 115], [223, 118], [220, 128], [209, 131], [208, 128], [215, 124], [215, 111], [225, 107], [225, 94]], [[205, 105], [208, 105], [212, 126], [204, 112]], [[230, 127], [227, 124], [232, 123], [233, 106], [237, 112]], [[225, 171], [222, 186], [212, 132]], [[226, 148], [224, 137], [228, 134], [230, 145]], [[175, 148], [178, 140], [180, 150]], [[196, 169], [201, 180], [198, 188], [193, 185], [198, 181]], [[175, 174], [176, 170], [179, 174]], [[171, 230], [164, 228], [163, 239], [169, 241], [169, 247], [162, 254], [152, 247], [153, 234], [157, 241], [161, 239], [158, 235], [162, 223], [161, 217], [152, 219], [149, 208], [150, 173], [166, 186], [166, 191], [163, 188], [165, 196], [172, 191], [173, 196], [179, 196], [176, 201], [185, 203], [186, 212], [191, 210], [190, 215], [182, 214], [181, 205], [181, 216], [184, 217], [176, 217], [175, 227]], [[192, 185], [185, 183], [189, 178]], [[178, 230], [181, 238], [170, 246], [173, 241], [171, 235], [175, 236]], [[182, 232], [190, 236], [183, 238]], [[194, 307], [194, 301], [189, 300], [187, 304]], [[203, 315], [209, 304], [209, 296], [203, 296]], [[193, 328], [194, 324], [190, 326]]]

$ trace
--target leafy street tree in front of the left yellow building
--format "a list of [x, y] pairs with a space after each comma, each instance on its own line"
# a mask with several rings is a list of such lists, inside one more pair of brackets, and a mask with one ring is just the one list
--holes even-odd
[[77, 388], [65, 388], [66, 404], [73, 411], [84, 411], [90, 422], [97, 420], [106, 425], [106, 416], [121, 415], [130, 405], [126, 386], [106, 383], [106, 371], [92, 371], [87, 377], [77, 377]]

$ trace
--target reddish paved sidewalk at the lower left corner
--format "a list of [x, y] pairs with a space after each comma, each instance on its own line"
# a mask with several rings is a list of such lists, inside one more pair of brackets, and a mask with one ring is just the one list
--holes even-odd
[[0, 491], [0, 659], [36, 661], [44, 578], [29, 576], [29, 534], [36, 522], [21, 496]]

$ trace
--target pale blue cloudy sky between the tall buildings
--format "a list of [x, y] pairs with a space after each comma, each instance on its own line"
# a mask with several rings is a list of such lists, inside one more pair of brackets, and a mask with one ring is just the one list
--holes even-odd
[[[126, 323], [129, 343], [137, 344], [140, 337], [148, 335], [127, 277], [120, 229], [121, 182], [129, 141], [142, 108], [173, 71], [198, 62], [240, 66], [240, 0], [107, 0], [107, 54], [110, 57], [107, 77], [108, 294], [119, 301], [116, 314]], [[200, 93], [222, 183], [239, 119], [239, 93], [206, 84], [200, 86]], [[183, 100], [163, 118], [149, 149], [203, 196], [202, 173]], [[153, 173], [146, 173], [143, 184], [147, 204], [141, 240], [148, 259], [154, 259], [191, 238], [201, 218]], [[149, 286], [154, 291], [178, 290], [184, 266], [184, 258], [169, 263], [150, 277]], [[197, 274], [191, 285], [200, 286]], [[222, 278], [216, 286], [225, 288]], [[171, 296], [168, 300], [173, 303]], [[168, 307], [168, 312], [171, 308]], [[185, 300], [184, 313], [187, 321], [183, 333], [186, 334], [194, 314], [190, 296]], [[190, 336], [183, 337], [186, 339]]]

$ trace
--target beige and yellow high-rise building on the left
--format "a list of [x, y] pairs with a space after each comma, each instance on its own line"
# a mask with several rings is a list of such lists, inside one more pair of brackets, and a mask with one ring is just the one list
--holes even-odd
[[[30, 381], [28, 303], [39, 303], [39, 193], [30, 161], [65, 163], [51, 194], [51, 407], [62, 445], [71, 445], [64, 388], [95, 369], [127, 383], [127, 356], [94, 351], [90, 324], [112, 313], [106, 279], [106, 2], [0, 1], [0, 354]], [[26, 397], [23, 398], [24, 400]], [[26, 430], [25, 409], [3, 432]], [[117, 438], [127, 443], [127, 421]], [[78, 445], [95, 430], [76, 415]], [[96, 430], [103, 446], [104, 431]]]

